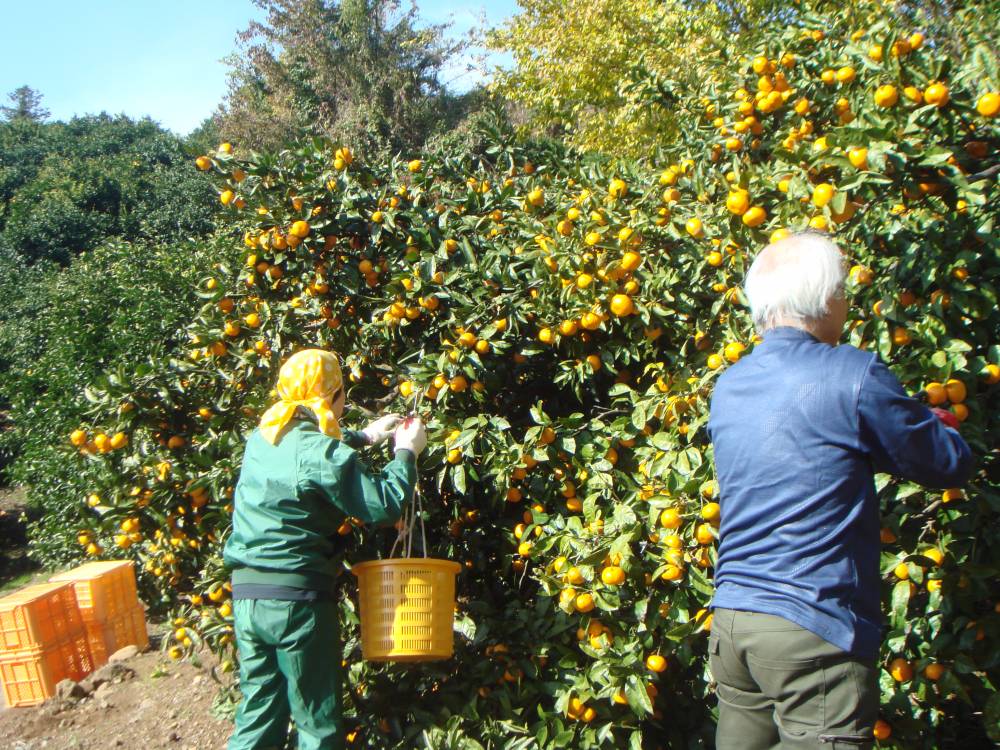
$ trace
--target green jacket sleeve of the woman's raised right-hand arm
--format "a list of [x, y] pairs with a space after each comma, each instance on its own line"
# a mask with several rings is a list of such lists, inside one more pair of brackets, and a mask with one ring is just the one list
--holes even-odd
[[413, 496], [417, 482], [416, 461], [407, 450], [378, 474], [361, 457], [338, 440], [316, 441], [310, 457], [312, 486], [347, 516], [365, 523], [392, 524]]

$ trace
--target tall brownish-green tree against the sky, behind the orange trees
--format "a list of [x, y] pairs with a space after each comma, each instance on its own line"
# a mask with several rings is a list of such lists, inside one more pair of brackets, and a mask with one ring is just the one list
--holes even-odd
[[223, 135], [248, 148], [279, 148], [324, 135], [368, 152], [418, 148], [446, 133], [474, 100], [439, 76], [463, 48], [444, 27], [417, 28], [398, 0], [255, 0], [267, 11], [240, 34]]

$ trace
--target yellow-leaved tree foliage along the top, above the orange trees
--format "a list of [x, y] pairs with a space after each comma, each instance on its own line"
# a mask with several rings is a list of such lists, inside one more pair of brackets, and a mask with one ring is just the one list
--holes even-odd
[[[996, 46], [984, 2], [850, 3], [657, 2], [656, 0], [526, 0], [522, 12], [490, 37], [514, 57], [496, 90], [527, 106], [537, 127], [564, 133], [587, 150], [632, 158], [672, 142], [676, 106], [706, 82], [728, 85], [748, 56], [779, 28], [836, 15], [863, 27], [884, 14], [913, 29], [935, 29], [935, 43], [956, 60], [978, 44]], [[991, 39], [992, 37], [992, 39]], [[595, 41], [596, 40], [596, 41]]]

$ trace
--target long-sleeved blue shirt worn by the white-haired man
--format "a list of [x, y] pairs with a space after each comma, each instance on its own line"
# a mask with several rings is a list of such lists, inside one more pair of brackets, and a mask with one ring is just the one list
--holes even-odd
[[961, 436], [878, 358], [796, 328], [719, 378], [709, 435], [722, 523], [713, 607], [776, 615], [854, 655], [877, 655], [879, 504], [874, 474], [956, 487]]

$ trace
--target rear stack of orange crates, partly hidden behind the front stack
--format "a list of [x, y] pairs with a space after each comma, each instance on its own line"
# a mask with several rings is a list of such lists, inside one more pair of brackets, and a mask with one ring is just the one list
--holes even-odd
[[51, 580], [71, 583], [76, 589], [95, 667], [106, 664], [108, 657], [124, 646], [142, 650], [149, 645], [131, 561], [87, 563]]

